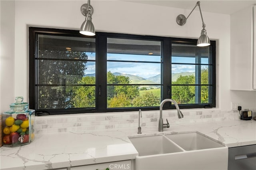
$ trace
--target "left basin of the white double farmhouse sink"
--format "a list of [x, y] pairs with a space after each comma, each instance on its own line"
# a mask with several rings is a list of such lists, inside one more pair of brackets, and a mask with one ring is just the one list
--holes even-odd
[[139, 156], [182, 152], [176, 144], [165, 136], [145, 136], [130, 138]]

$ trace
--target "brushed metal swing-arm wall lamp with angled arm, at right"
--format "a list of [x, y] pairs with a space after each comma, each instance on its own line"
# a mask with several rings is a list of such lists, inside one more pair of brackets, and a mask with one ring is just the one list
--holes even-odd
[[[202, 28], [203, 28], [202, 31], [201, 31], [201, 36], [198, 38], [198, 41], [197, 41], [196, 45], [198, 47], [205, 47], [205, 46], [210, 45], [210, 39], [206, 35], [206, 29], [205, 29], [206, 25], [204, 24], [204, 20], [203, 20], [201, 8], [200, 8], [200, 1], [196, 2], [196, 6], [198, 6], [199, 10], [200, 10], [200, 15], [201, 15], [201, 18], [202, 18]], [[194, 11], [196, 6], [193, 8], [193, 10], [190, 12], [190, 14]], [[188, 15], [188, 17], [190, 16], [190, 14]], [[184, 24], [186, 24], [188, 17], [186, 18], [182, 14], [178, 15], [177, 18], [176, 18], [177, 24], [180, 25], [180, 26], [183, 26]]]

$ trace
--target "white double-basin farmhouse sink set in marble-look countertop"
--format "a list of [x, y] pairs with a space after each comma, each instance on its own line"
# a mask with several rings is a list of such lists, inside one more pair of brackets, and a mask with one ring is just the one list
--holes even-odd
[[130, 138], [134, 170], [227, 170], [228, 147], [197, 132]]

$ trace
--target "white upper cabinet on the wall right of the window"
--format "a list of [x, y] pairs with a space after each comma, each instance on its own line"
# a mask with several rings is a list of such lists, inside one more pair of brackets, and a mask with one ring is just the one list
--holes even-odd
[[230, 15], [230, 89], [256, 91], [256, 6]]

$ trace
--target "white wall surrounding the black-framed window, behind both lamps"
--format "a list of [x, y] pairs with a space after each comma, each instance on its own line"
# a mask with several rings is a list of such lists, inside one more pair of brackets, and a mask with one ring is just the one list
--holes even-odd
[[[14, 59], [12, 65], [15, 67], [15, 76], [8, 76], [5, 79], [7, 82], [13, 82], [15, 79], [14, 88], [9, 88], [15, 96], [24, 96], [24, 101], [28, 101], [28, 27], [79, 30], [84, 21], [84, 16], [80, 12], [80, 7], [84, 3], [87, 1], [18, 0], [15, 2], [15, 55], [11, 56]], [[178, 14], [187, 16], [191, 10], [108, 0], [92, 0], [91, 5], [94, 8], [92, 22], [96, 31], [198, 38], [202, 30], [198, 10], [191, 14], [186, 25], [178, 26], [176, 16]], [[217, 40], [217, 107], [231, 109], [228, 78], [230, 76], [230, 16], [203, 12], [203, 17], [208, 36], [211, 40]], [[12, 47], [10, 45], [10, 48]], [[6, 71], [8, 71], [7, 68]], [[6, 91], [4, 91], [5, 94], [7, 95]], [[255, 107], [255, 95], [248, 99], [248, 105]], [[250, 103], [251, 101], [254, 103]], [[8, 101], [8, 103], [12, 102], [13, 99]]]

